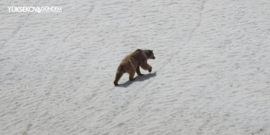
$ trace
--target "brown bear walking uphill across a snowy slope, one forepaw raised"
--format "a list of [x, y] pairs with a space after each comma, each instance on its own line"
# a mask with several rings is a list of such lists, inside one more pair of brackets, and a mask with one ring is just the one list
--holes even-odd
[[151, 72], [152, 67], [149, 64], [147, 64], [148, 59], [156, 59], [153, 50], [137, 49], [135, 52], [132, 52], [129, 55], [125, 56], [125, 58], [121, 61], [121, 63], [117, 68], [114, 79], [114, 85], [115, 86], [119, 85], [118, 81], [120, 80], [120, 78], [124, 73], [129, 73], [130, 81], [135, 80], [135, 78], [133, 78], [135, 75], [135, 71], [138, 75], [144, 75], [141, 74], [140, 66], [142, 69]]

